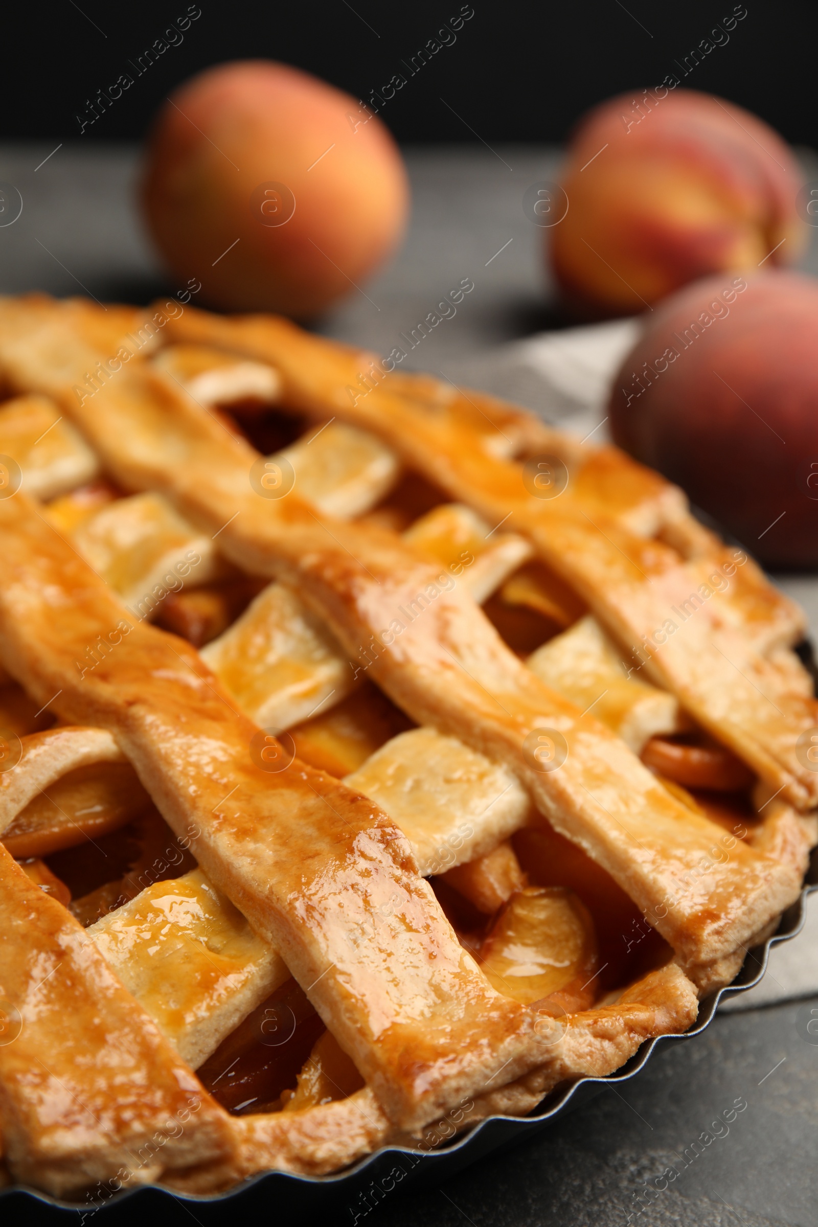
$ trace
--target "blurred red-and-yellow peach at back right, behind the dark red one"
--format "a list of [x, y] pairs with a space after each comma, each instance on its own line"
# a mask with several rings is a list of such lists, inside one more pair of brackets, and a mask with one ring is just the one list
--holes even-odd
[[595, 108], [571, 142], [569, 207], [546, 231], [569, 306], [640, 312], [713, 272], [792, 261], [798, 168], [771, 128], [732, 103], [667, 85]]

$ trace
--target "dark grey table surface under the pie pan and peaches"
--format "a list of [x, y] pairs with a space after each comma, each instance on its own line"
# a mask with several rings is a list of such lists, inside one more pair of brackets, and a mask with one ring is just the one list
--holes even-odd
[[[52, 150], [0, 146], [0, 182], [23, 199], [18, 221], [0, 227], [0, 292], [146, 302], [174, 290], [134, 206], [136, 151], [77, 144], [40, 164]], [[320, 330], [386, 353], [462, 277], [473, 280], [473, 292], [407, 366], [462, 371], [470, 356], [547, 328], [554, 317], [542, 231], [526, 220], [521, 199], [531, 183], [554, 177], [558, 160], [545, 147], [408, 151], [406, 243]], [[806, 266], [818, 271], [814, 244]], [[606, 1088], [533, 1141], [483, 1158], [433, 1191], [386, 1195], [358, 1223], [811, 1227], [818, 1220], [818, 1044], [806, 1038], [805, 1011], [812, 1005], [818, 998], [716, 1016], [700, 1037], [659, 1053], [633, 1081]], [[728, 1126], [713, 1125], [736, 1099], [747, 1108]], [[694, 1148], [705, 1131], [722, 1136]], [[678, 1177], [636, 1200], [670, 1166]], [[352, 1223], [359, 1209], [341, 1204], [332, 1217]], [[191, 1212], [178, 1205], [170, 1218], [189, 1223]]]

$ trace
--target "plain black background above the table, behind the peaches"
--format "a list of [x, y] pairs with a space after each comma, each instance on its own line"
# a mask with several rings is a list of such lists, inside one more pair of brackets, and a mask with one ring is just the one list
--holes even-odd
[[[403, 142], [562, 141], [590, 106], [659, 85], [733, 0], [473, 0], [475, 16], [380, 112]], [[368, 98], [402, 72], [461, 0], [200, 0], [201, 17], [135, 80], [83, 141], [141, 136], [167, 93], [229, 59], [298, 65]], [[746, 0], [747, 16], [683, 81], [754, 110], [787, 140], [818, 145], [814, 0]], [[188, 0], [9, 4], [2, 17], [0, 137], [70, 140], [107, 90]], [[131, 72], [131, 75], [134, 75]], [[406, 75], [406, 74], [405, 74]], [[445, 98], [460, 119], [444, 106]], [[471, 131], [470, 129], [473, 129]]]

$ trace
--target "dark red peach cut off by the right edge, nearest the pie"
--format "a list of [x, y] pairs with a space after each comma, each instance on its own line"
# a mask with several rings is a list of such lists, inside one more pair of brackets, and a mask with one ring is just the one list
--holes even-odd
[[614, 442], [762, 562], [818, 564], [818, 282], [710, 277], [668, 298], [611, 391]]

